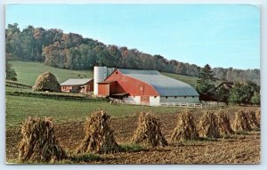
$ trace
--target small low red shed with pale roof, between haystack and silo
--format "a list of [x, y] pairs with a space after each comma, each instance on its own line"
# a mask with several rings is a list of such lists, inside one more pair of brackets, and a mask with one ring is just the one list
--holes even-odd
[[61, 92], [86, 93], [93, 91], [93, 78], [71, 78], [61, 83]]

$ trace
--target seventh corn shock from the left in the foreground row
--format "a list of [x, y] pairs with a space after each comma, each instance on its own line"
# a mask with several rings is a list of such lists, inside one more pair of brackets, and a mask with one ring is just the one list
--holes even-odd
[[236, 113], [234, 128], [236, 131], [251, 131], [251, 126], [249, 124], [248, 118], [244, 110], [240, 109], [238, 113]]

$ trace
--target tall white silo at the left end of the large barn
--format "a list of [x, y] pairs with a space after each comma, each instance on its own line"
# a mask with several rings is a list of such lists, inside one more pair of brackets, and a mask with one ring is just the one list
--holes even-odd
[[107, 67], [93, 67], [93, 94], [98, 95], [98, 84], [99, 82], [102, 82], [108, 74]]

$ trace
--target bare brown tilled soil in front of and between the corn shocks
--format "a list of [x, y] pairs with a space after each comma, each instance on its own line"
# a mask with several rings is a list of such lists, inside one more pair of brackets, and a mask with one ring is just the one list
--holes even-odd
[[[229, 113], [231, 122], [233, 114]], [[202, 114], [194, 112], [197, 125]], [[162, 133], [169, 142], [176, 126], [177, 114], [157, 114]], [[55, 125], [55, 136], [64, 150], [73, 153], [84, 138], [84, 121]], [[113, 117], [111, 128], [119, 144], [129, 143], [137, 126], [137, 117]], [[15, 148], [20, 141], [20, 130], [7, 131], [6, 158], [18, 156]], [[218, 140], [171, 143], [166, 147], [148, 148], [136, 152], [101, 154], [100, 160], [90, 164], [258, 164], [260, 163], [260, 132], [233, 134]], [[83, 163], [83, 162], [80, 162]]]

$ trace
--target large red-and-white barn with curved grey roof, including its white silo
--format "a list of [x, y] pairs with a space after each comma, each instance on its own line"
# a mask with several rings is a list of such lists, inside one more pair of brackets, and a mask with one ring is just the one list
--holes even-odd
[[158, 106], [167, 102], [198, 102], [198, 92], [186, 83], [156, 70], [94, 67], [94, 94], [111, 96], [134, 104]]

